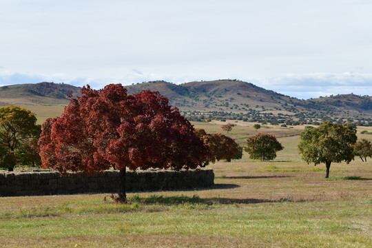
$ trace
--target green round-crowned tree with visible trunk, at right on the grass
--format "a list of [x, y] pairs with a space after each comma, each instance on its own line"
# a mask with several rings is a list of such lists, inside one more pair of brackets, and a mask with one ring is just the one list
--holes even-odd
[[300, 134], [298, 150], [307, 163], [326, 164], [326, 178], [329, 178], [331, 163], [350, 163], [354, 159], [356, 130], [349, 124], [322, 123], [317, 128], [309, 128]]

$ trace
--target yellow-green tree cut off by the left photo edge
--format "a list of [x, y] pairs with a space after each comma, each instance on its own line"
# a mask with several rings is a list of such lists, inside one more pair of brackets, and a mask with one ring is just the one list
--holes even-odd
[[40, 125], [30, 110], [23, 107], [0, 107], [0, 167], [10, 172], [17, 163], [40, 160], [36, 143], [40, 136]]

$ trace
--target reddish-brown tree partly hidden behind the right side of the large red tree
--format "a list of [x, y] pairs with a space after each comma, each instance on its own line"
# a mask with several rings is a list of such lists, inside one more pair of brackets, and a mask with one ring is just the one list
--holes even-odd
[[239, 145], [234, 139], [228, 136], [223, 134], [207, 134], [203, 129], [196, 129], [195, 134], [203, 141], [205, 147], [208, 149], [207, 159], [200, 165], [201, 167], [223, 159], [230, 162], [231, 159], [240, 159], [242, 157], [240, 155], [241, 150], [239, 149]]

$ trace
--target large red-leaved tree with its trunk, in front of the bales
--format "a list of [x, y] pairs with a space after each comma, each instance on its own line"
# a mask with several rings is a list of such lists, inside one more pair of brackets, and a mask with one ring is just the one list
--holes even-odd
[[43, 124], [39, 140], [43, 167], [59, 172], [118, 169], [118, 200], [126, 201], [125, 170], [196, 168], [207, 148], [194, 127], [158, 92], [127, 95], [120, 84], [83, 87], [59, 118]]

